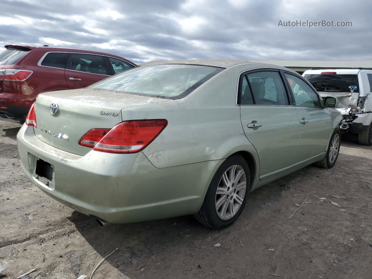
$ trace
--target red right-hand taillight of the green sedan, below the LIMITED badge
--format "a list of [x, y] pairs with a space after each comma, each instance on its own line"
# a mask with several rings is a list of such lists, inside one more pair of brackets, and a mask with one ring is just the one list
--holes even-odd
[[109, 153], [136, 153], [150, 144], [167, 126], [165, 119], [124, 121], [112, 129], [91, 129], [79, 144]]

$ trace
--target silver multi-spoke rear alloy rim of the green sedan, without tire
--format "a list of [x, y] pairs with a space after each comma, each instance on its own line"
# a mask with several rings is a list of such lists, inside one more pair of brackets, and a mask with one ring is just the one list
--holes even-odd
[[247, 190], [246, 172], [241, 166], [228, 168], [218, 183], [215, 208], [222, 220], [232, 218], [239, 211]]

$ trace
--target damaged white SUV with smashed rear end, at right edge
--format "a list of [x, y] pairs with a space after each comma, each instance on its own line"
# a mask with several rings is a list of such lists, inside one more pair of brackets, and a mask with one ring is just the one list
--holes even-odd
[[372, 69], [307, 70], [303, 76], [320, 96], [337, 97], [341, 132], [357, 134], [359, 144], [372, 145]]

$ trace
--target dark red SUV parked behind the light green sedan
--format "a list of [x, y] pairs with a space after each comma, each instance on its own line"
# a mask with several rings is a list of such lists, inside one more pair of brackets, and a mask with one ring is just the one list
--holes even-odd
[[0, 53], [0, 116], [24, 120], [39, 93], [89, 86], [133, 67], [97, 51], [6, 45]]

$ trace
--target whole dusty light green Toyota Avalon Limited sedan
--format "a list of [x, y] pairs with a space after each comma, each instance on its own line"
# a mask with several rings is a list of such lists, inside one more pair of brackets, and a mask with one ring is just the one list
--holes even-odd
[[218, 229], [257, 187], [334, 166], [337, 103], [275, 65], [162, 61], [40, 94], [17, 142], [35, 185], [102, 226], [194, 214]]

